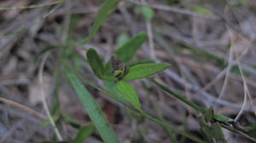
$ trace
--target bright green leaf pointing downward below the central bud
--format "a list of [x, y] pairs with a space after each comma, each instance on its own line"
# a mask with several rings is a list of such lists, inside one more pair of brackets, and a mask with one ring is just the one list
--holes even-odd
[[133, 106], [135, 106], [139, 111], [141, 111], [141, 104], [137, 96], [137, 91], [134, 89], [130, 83], [127, 82], [118, 82], [116, 83], [116, 88], [121, 94], [125, 96], [125, 99], [128, 100]]

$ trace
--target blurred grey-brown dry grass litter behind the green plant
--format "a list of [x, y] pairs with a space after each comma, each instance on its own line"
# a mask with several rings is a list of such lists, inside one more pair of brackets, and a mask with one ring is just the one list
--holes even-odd
[[[0, 143], [55, 140], [54, 129], [45, 122], [40, 89], [44, 89], [63, 139], [74, 138], [78, 129], [67, 118], [83, 125], [90, 124], [90, 118], [60, 68], [57, 49], [66, 47], [81, 75], [102, 87], [84, 61], [86, 49], [95, 48], [108, 61], [115, 49], [140, 31], [148, 34], [148, 40], [133, 60], [172, 64], [155, 76], [161, 83], [200, 106], [213, 106], [215, 112], [236, 118], [243, 126], [256, 122], [256, 1], [122, 0], [90, 43], [76, 44], [88, 36], [102, 3], [0, 1]], [[39, 66], [46, 52], [44, 83], [40, 83]], [[201, 138], [195, 110], [147, 79], [132, 84], [145, 112]], [[121, 142], [172, 142], [160, 125], [86, 87]], [[253, 142], [225, 129], [224, 135], [232, 143]], [[85, 142], [102, 140], [95, 132]]]

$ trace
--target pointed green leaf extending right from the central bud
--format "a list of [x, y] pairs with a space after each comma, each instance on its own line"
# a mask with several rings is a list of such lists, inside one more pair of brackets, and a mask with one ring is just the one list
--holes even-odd
[[166, 70], [170, 64], [167, 63], [153, 63], [153, 64], [139, 64], [131, 66], [129, 72], [125, 75], [124, 81], [140, 79], [154, 75], [157, 72]]

